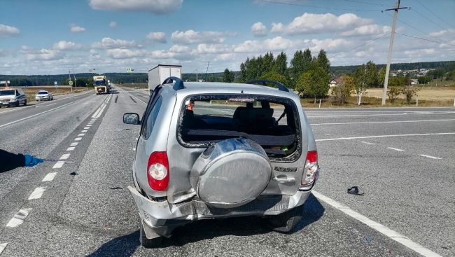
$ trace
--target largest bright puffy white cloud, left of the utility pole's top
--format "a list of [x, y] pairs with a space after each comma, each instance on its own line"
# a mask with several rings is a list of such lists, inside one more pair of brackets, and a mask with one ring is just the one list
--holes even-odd
[[294, 18], [288, 25], [283, 23], [272, 23], [272, 32], [283, 34], [308, 34], [341, 32], [346, 29], [353, 29], [358, 26], [371, 24], [372, 20], [360, 18], [353, 13], [333, 15], [332, 13], [316, 14], [304, 13]]

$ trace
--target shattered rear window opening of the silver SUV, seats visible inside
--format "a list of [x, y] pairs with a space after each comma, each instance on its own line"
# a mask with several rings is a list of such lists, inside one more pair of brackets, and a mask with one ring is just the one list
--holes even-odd
[[298, 158], [300, 124], [290, 99], [262, 95], [193, 95], [181, 106], [179, 134], [186, 147], [223, 139], [256, 141], [269, 158]]

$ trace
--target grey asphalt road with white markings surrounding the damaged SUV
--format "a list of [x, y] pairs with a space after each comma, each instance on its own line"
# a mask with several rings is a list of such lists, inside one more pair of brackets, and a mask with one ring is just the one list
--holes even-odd
[[127, 190], [139, 126], [122, 116], [147, 102], [118, 88], [0, 110], [0, 148], [50, 159], [0, 174], [0, 257], [455, 256], [453, 108], [307, 109], [322, 173], [293, 232], [205, 220], [144, 249]]

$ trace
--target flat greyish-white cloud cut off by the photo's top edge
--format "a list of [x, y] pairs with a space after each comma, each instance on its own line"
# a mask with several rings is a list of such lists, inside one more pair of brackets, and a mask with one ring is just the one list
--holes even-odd
[[89, 0], [88, 4], [95, 10], [166, 14], [179, 9], [182, 2], [183, 0]]

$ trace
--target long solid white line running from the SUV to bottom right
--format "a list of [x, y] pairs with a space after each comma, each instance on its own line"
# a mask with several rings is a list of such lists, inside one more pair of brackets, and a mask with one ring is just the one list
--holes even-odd
[[325, 195], [322, 195], [321, 193], [316, 192], [315, 190], [313, 190], [312, 193], [316, 198], [318, 198], [318, 200], [321, 200], [321, 201], [325, 202], [326, 204], [329, 204], [330, 206], [334, 207], [335, 209], [338, 209], [339, 211], [344, 212], [344, 214], [347, 214], [348, 216], [355, 218], [357, 221], [364, 223], [365, 225], [380, 232], [381, 234], [385, 235], [386, 237], [389, 237], [389, 238], [395, 240], [396, 242], [399, 242], [400, 244], [406, 246], [407, 248], [412, 249], [413, 251], [416, 251], [416, 253], [420, 253], [421, 255], [428, 256], [428, 257], [441, 257], [439, 254], [435, 253], [434, 251], [431, 251], [430, 249], [426, 249], [425, 247], [413, 242], [411, 239], [405, 237], [404, 235], [401, 235], [400, 233], [398, 233], [394, 230], [391, 230], [390, 228], [387, 228], [385, 225], [377, 223], [376, 221], [370, 220], [370, 218], [367, 218], [366, 216], [363, 216], [362, 214], [359, 214], [358, 212], [353, 211], [351, 208], [346, 207], [346, 206], [340, 204], [339, 202], [332, 200], [331, 198], [326, 197]]

